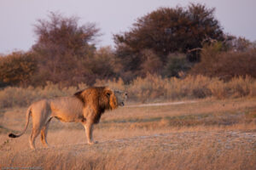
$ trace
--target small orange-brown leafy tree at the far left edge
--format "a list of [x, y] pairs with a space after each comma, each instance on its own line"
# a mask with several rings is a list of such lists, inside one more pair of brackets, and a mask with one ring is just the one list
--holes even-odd
[[0, 82], [2, 86], [26, 87], [37, 71], [37, 60], [32, 53], [15, 52], [0, 57]]

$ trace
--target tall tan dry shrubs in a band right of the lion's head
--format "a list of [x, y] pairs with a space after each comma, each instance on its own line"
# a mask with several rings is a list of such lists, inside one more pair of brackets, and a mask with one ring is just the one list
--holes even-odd
[[217, 77], [201, 75], [188, 76], [183, 79], [177, 77], [161, 78], [148, 75], [138, 77], [127, 86], [132, 99], [140, 101], [172, 100], [172, 99], [216, 99], [254, 97], [256, 82], [252, 77], [235, 77], [230, 82], [224, 82]]

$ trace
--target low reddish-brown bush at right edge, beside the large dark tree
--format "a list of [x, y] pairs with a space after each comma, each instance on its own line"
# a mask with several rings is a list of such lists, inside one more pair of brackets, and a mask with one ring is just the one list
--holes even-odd
[[224, 81], [247, 75], [256, 78], [256, 48], [236, 52], [223, 52], [220, 48], [221, 43], [203, 48], [201, 62], [195, 65], [190, 73], [218, 77]]

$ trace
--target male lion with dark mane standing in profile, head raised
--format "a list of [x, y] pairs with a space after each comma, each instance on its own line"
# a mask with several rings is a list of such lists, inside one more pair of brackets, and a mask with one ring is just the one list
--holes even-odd
[[42, 99], [30, 105], [26, 112], [26, 127], [20, 134], [9, 133], [10, 138], [25, 133], [29, 117], [32, 116], [30, 147], [35, 149], [35, 139], [41, 131], [41, 141], [48, 146], [46, 135], [50, 120], [55, 117], [61, 122], [81, 122], [85, 128], [88, 144], [92, 139], [93, 124], [98, 123], [105, 110], [125, 105], [127, 94], [106, 87], [87, 88], [71, 97]]

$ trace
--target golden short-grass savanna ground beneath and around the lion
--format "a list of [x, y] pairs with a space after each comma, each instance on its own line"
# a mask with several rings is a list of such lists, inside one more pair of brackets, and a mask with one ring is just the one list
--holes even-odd
[[126, 105], [106, 112], [94, 139], [84, 127], [54, 120], [49, 148], [29, 148], [26, 108], [1, 110], [0, 167], [33, 169], [256, 169], [256, 99], [201, 99], [173, 105]]

